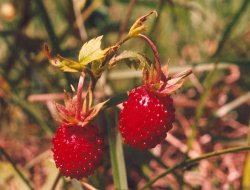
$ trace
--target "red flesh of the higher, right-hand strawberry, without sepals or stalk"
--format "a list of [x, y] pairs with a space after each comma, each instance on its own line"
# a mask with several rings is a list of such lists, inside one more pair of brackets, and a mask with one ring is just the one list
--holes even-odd
[[172, 128], [175, 109], [170, 96], [158, 97], [140, 86], [129, 93], [123, 106], [119, 129], [125, 143], [134, 148], [154, 148]]

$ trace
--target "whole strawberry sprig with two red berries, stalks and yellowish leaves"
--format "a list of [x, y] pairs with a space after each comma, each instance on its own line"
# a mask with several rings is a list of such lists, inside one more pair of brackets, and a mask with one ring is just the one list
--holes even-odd
[[[156, 12], [152, 11], [139, 18], [127, 36], [114, 46], [102, 50], [102, 36], [86, 42], [80, 50], [78, 61], [60, 55], [53, 57], [45, 46], [45, 53], [54, 66], [64, 72], [83, 73], [76, 95], [70, 98], [65, 92], [65, 107], [55, 104], [61, 126], [53, 138], [52, 151], [56, 166], [64, 176], [81, 179], [93, 173], [100, 164], [104, 152], [103, 139], [91, 122], [109, 100], [91, 108], [93, 93], [102, 73], [116, 67], [122, 59], [137, 59], [135, 64], [142, 69], [144, 83], [129, 92], [128, 100], [123, 103], [119, 129], [124, 142], [141, 150], [154, 148], [165, 139], [172, 128], [175, 109], [170, 94], [181, 87], [185, 77], [192, 71], [187, 70], [171, 77], [163, 73], [157, 48], [142, 34], [146, 29], [146, 21], [152, 14]], [[150, 62], [146, 55], [135, 52], [130, 52], [127, 56], [119, 55], [121, 46], [133, 38], [145, 40], [154, 53], [154, 62]], [[85, 75], [89, 75], [90, 83], [83, 100]]]

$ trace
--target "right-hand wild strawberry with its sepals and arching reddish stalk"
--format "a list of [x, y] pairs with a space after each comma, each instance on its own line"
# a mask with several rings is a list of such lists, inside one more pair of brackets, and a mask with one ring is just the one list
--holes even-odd
[[154, 148], [161, 143], [172, 128], [175, 109], [170, 94], [176, 91], [191, 74], [187, 70], [172, 77], [165, 75], [153, 42], [139, 34], [151, 46], [155, 67], [144, 65], [144, 84], [131, 92], [120, 113], [119, 129], [125, 143], [141, 150]]

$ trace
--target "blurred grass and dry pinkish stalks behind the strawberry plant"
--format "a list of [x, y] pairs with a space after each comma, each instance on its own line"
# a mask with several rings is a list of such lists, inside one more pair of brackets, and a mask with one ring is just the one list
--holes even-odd
[[[149, 19], [146, 35], [157, 45], [163, 69], [169, 62], [170, 74], [186, 68], [194, 74], [173, 95], [176, 122], [166, 141], [148, 152], [124, 147], [129, 188], [140, 189], [185, 158], [250, 145], [249, 4], [249, 0], [0, 0], [0, 189], [30, 189], [27, 183], [34, 189], [51, 189], [58, 174], [50, 151], [58, 125], [52, 101], [62, 100], [63, 89], [70, 91], [70, 84], [76, 86], [79, 73], [63, 73], [50, 65], [43, 45], [48, 44], [54, 55], [76, 60], [87, 40], [104, 35], [102, 47], [111, 46], [151, 10], [158, 17]], [[119, 52], [125, 49], [153, 60], [139, 40], [130, 40]], [[140, 77], [140, 71], [121, 64], [101, 78], [96, 99], [124, 93], [140, 85]], [[102, 114], [96, 122], [100, 118]], [[108, 151], [84, 183], [114, 189]], [[60, 178], [57, 189], [74, 186]], [[161, 178], [152, 189], [250, 189], [250, 154], [203, 160]]]

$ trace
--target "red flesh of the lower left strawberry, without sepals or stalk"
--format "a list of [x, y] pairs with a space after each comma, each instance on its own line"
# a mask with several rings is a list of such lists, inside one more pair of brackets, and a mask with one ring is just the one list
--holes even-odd
[[61, 125], [53, 138], [54, 160], [62, 175], [81, 179], [100, 164], [104, 142], [96, 126]]

